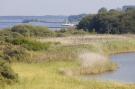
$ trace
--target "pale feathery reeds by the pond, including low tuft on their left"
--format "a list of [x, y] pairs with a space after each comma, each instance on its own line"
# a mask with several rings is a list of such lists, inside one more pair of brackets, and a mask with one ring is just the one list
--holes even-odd
[[117, 69], [117, 64], [101, 54], [85, 52], [79, 55], [79, 66], [72, 69], [61, 69], [60, 73], [67, 76], [95, 75]]

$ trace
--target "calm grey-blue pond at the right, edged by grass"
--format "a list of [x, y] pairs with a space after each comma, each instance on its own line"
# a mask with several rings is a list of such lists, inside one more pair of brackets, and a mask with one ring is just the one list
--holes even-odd
[[123, 53], [111, 56], [119, 69], [101, 75], [86, 76], [86, 79], [98, 79], [123, 83], [135, 83], [135, 53]]

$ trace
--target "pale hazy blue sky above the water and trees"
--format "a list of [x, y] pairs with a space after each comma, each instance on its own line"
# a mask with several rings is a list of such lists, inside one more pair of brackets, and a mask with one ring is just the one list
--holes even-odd
[[135, 5], [135, 0], [0, 0], [0, 16], [76, 15], [123, 5]]

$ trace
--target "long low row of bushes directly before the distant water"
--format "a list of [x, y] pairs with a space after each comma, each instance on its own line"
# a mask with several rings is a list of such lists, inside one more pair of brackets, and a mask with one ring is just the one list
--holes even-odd
[[59, 31], [51, 31], [46, 27], [31, 26], [31, 25], [17, 25], [11, 29], [4, 29], [0, 31], [0, 40], [11, 40], [14, 38], [32, 38], [32, 37], [63, 37], [69, 35], [85, 35], [88, 34], [83, 30], [77, 30], [75, 28], [62, 29]]

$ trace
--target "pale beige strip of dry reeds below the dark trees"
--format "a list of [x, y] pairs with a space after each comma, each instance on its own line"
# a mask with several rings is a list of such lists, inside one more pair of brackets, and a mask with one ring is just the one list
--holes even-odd
[[91, 44], [95, 41], [109, 41], [109, 40], [129, 40], [133, 39], [133, 35], [80, 35], [68, 37], [52, 37], [37, 39], [41, 42], [60, 42], [64, 45], [78, 45]]

